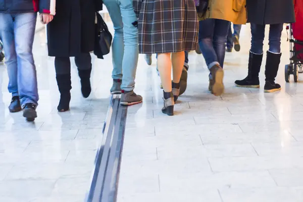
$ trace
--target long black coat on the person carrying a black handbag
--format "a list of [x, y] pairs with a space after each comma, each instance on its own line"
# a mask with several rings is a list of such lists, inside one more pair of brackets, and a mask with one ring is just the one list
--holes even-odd
[[94, 47], [95, 12], [102, 0], [59, 0], [56, 15], [47, 25], [48, 55], [74, 57]]

